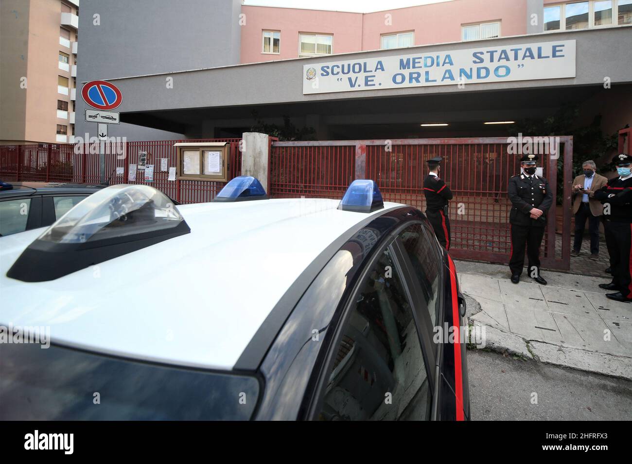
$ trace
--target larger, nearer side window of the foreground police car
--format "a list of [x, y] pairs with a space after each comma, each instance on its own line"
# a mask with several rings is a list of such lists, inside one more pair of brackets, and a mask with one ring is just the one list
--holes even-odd
[[431, 396], [420, 338], [389, 251], [360, 285], [319, 419], [428, 419]]

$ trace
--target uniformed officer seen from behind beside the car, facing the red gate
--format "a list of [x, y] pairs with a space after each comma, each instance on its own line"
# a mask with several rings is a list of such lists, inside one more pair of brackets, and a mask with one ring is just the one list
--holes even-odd
[[430, 172], [423, 179], [423, 194], [426, 197], [426, 217], [437, 235], [437, 240], [446, 250], [450, 249], [450, 220], [447, 217], [447, 201], [452, 191], [446, 182], [439, 179], [441, 157], [427, 161]]

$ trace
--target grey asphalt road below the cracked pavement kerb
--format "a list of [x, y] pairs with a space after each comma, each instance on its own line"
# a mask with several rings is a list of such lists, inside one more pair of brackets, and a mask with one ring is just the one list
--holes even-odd
[[472, 420], [632, 420], [629, 381], [483, 350], [468, 373]]

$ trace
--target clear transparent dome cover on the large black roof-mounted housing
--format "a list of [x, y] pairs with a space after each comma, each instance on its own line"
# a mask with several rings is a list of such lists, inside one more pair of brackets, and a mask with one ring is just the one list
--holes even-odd
[[143, 185], [111, 186], [94, 193], [51, 225], [40, 241], [81, 243], [176, 227], [183, 221], [161, 191]]

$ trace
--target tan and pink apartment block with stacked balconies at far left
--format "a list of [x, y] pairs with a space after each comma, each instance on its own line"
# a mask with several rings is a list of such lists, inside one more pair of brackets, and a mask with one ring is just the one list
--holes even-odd
[[0, 8], [0, 143], [72, 142], [79, 0]]

